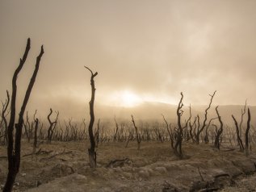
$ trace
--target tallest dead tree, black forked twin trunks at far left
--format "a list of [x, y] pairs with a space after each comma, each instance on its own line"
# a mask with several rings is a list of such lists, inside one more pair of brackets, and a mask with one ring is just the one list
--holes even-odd
[[[34, 73], [32, 74], [31, 80], [27, 86], [27, 91], [25, 94], [25, 97], [23, 99], [23, 104], [21, 106], [20, 112], [19, 112], [19, 119], [18, 123], [15, 123], [15, 113], [16, 113], [16, 94], [17, 94], [17, 77], [19, 75], [19, 72], [21, 69], [23, 69], [23, 65], [25, 61], [27, 60], [27, 54], [30, 50], [30, 39], [27, 39], [27, 46], [26, 50], [23, 54], [23, 58], [19, 61], [19, 66], [15, 70], [14, 76], [12, 78], [12, 95], [11, 95], [11, 101], [10, 101], [10, 121], [8, 125], [8, 147], [7, 147], [7, 155], [8, 155], [8, 174], [6, 179], [6, 184], [3, 188], [4, 192], [10, 192], [12, 190], [12, 187], [15, 182], [15, 177], [17, 173], [19, 173], [19, 165], [20, 165], [20, 147], [21, 147], [21, 135], [22, 135], [22, 128], [23, 128], [23, 115], [26, 110], [27, 102], [31, 94], [31, 90], [34, 86], [34, 83], [36, 81], [36, 75], [39, 70], [40, 66], [40, 60], [41, 57], [44, 54], [44, 48], [43, 45], [41, 46], [40, 54], [36, 58], [36, 67], [34, 70]], [[16, 129], [15, 131], [15, 146], [14, 146], [14, 127]]]

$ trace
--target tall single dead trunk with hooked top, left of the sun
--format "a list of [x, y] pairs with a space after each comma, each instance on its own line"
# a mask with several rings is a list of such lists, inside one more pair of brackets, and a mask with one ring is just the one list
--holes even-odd
[[85, 66], [86, 69], [90, 71], [90, 86], [91, 86], [91, 98], [90, 98], [90, 123], [88, 127], [88, 132], [89, 132], [89, 137], [90, 137], [90, 148], [88, 148], [88, 153], [89, 153], [89, 164], [91, 168], [96, 167], [96, 152], [95, 152], [95, 140], [94, 140], [94, 132], [93, 132], [93, 127], [94, 127], [94, 97], [95, 97], [95, 85], [94, 85], [94, 77], [98, 75], [98, 72], [93, 73], [88, 67]]

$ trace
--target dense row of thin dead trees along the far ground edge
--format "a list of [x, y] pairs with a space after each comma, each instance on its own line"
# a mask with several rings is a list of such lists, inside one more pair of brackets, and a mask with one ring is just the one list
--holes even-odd
[[[191, 111], [191, 107], [190, 107]], [[52, 115], [50, 115], [52, 113]], [[82, 119], [82, 121], [74, 122], [72, 119], [69, 119], [68, 121], [60, 121], [58, 119], [58, 111], [55, 112], [55, 115], [53, 115], [53, 112], [51, 110], [49, 111], [48, 117], [50, 121], [41, 122], [41, 120], [37, 120], [37, 126], [36, 126], [36, 112], [34, 115], [29, 118], [28, 115], [25, 115], [24, 122], [23, 122], [23, 132], [22, 137], [27, 140], [28, 143], [51, 143], [52, 141], [81, 141], [81, 140], [88, 140], [89, 135], [86, 131], [86, 120]], [[165, 116], [163, 116], [163, 123], [161, 122], [153, 122], [153, 123], [147, 123], [147, 122], [141, 122], [136, 123], [136, 128], [134, 127], [133, 122], [128, 121], [121, 121], [119, 123], [117, 119], [114, 118], [114, 122], [112, 125], [109, 123], [107, 124], [107, 127], [104, 127], [105, 123], [101, 123], [100, 119], [98, 120], [97, 125], [94, 126], [94, 140], [96, 147], [99, 144], [109, 143], [109, 142], [125, 142], [125, 146], [128, 146], [128, 143], [130, 141], [136, 141], [140, 140], [142, 142], [144, 141], [158, 141], [158, 142], [165, 142], [170, 141], [170, 138], [173, 138], [172, 132], [176, 131], [176, 127], [174, 126], [174, 123], [168, 124]], [[132, 116], [133, 121], [135, 119]], [[212, 118], [209, 119], [207, 125], [204, 128], [204, 131], [201, 131], [199, 133], [199, 126], [200, 121], [198, 120], [198, 116], [193, 119], [193, 121], [189, 121], [191, 117], [185, 123], [182, 124], [183, 128], [183, 140], [185, 142], [191, 142], [193, 144], [199, 144], [199, 143], [212, 143], [214, 144], [216, 136], [219, 135], [219, 140], [221, 142], [230, 143], [231, 145], [234, 144], [234, 141], [237, 141], [237, 133], [239, 138], [245, 143], [245, 138], [243, 137], [246, 133], [246, 130], [243, 131], [243, 129], [238, 128], [236, 131], [233, 127], [228, 127], [227, 125], [223, 125], [223, 132], [222, 134], [217, 134], [218, 130], [216, 129], [216, 123], [217, 119]], [[186, 123], [187, 122], [187, 123]], [[135, 122], [134, 122], [135, 123]], [[103, 125], [101, 125], [103, 124]], [[203, 123], [202, 123], [203, 124]], [[237, 126], [239, 127], [241, 123], [237, 123]], [[106, 124], [105, 124], [106, 125]], [[165, 127], [166, 125], [166, 127]], [[137, 129], [137, 131], [136, 131]], [[4, 132], [4, 128], [2, 129]], [[241, 131], [240, 131], [241, 130]], [[172, 131], [172, 132], [170, 132]], [[220, 132], [219, 132], [220, 133]], [[241, 136], [241, 134], [243, 136]], [[195, 138], [198, 138], [199, 141], [196, 141]], [[248, 134], [248, 140], [250, 140], [251, 143], [255, 143], [256, 139], [256, 132], [249, 131]], [[37, 140], [37, 142], [35, 142]], [[1, 140], [1, 143], [3, 144], [3, 137]], [[241, 143], [241, 142], [240, 142]], [[241, 148], [244, 144], [241, 145]], [[245, 150], [245, 147], [244, 147]]]

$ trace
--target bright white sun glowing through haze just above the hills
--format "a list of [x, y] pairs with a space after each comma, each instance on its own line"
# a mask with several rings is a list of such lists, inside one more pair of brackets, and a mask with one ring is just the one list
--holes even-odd
[[115, 106], [134, 107], [141, 104], [142, 99], [130, 90], [122, 90], [111, 95], [111, 102]]

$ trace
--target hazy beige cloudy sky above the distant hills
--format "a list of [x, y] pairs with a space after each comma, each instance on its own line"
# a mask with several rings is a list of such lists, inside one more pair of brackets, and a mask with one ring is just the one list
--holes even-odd
[[87, 106], [84, 65], [99, 73], [102, 104], [176, 104], [181, 91], [185, 104], [207, 104], [217, 90], [215, 104], [256, 105], [255, 10], [254, 0], [1, 0], [0, 99], [31, 37], [19, 98], [45, 51], [31, 106]]

